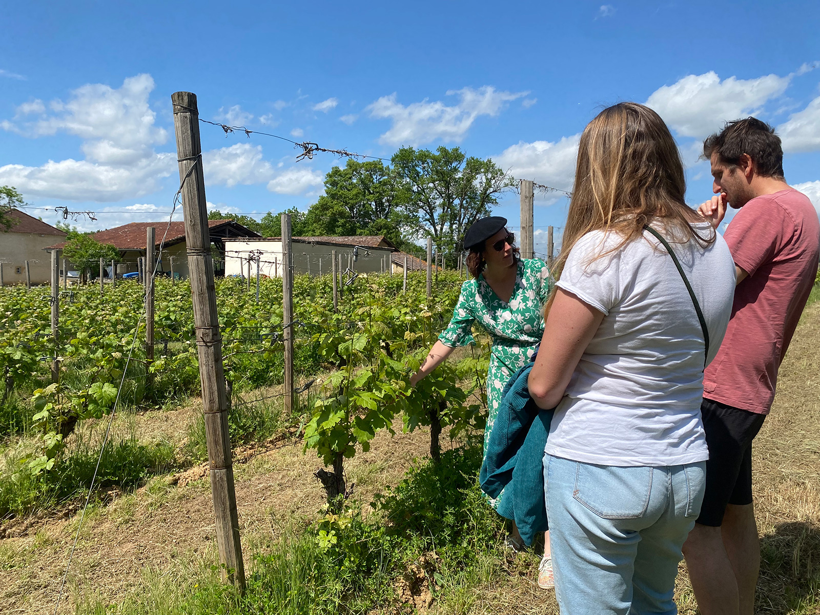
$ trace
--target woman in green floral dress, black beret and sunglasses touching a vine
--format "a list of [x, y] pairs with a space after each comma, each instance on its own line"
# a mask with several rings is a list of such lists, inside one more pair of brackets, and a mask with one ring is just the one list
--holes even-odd
[[[499, 413], [501, 393], [510, 376], [526, 365], [535, 353], [535, 346], [544, 333], [544, 304], [550, 291], [550, 277], [544, 261], [522, 259], [515, 248], [515, 237], [504, 225], [507, 220], [493, 216], [476, 221], [464, 237], [467, 268], [472, 279], [462, 285], [461, 295], [453, 310], [453, 319], [439, 335], [419, 371], [412, 376], [415, 385], [446, 359], [454, 348], [474, 342], [472, 325], [477, 322], [492, 337], [490, 369], [487, 372], [487, 426], [484, 450], [490, 440], [495, 417]], [[489, 499], [498, 509], [504, 493]], [[520, 546], [513, 523], [510, 542]], [[549, 533], [540, 566], [539, 585], [552, 586], [549, 561]]]

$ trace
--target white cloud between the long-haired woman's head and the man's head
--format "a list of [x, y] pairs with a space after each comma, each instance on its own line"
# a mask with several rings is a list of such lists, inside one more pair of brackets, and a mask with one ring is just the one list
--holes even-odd
[[772, 98], [780, 96], [791, 77], [764, 75], [741, 80], [720, 80], [717, 73], [686, 75], [672, 85], [663, 85], [647, 99], [646, 105], [663, 117], [682, 137], [703, 139], [719, 130], [725, 121], [754, 115]]

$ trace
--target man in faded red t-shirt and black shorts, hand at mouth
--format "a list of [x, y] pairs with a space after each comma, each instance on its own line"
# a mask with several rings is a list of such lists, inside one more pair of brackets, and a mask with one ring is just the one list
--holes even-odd
[[704, 141], [717, 196], [699, 207], [736, 266], [735, 301], [721, 348], [704, 372], [701, 413], [709, 448], [706, 492], [684, 544], [700, 613], [751, 615], [760, 568], [752, 504], [752, 440], [772, 408], [777, 369], [818, 271], [820, 222], [783, 176], [780, 138], [749, 117]]

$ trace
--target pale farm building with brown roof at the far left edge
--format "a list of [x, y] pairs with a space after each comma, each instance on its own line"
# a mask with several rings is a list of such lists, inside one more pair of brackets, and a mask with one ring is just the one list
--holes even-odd
[[8, 232], [0, 232], [3, 284], [25, 284], [26, 261], [29, 262], [31, 283], [48, 284], [51, 257], [43, 252], [43, 248], [66, 234], [18, 209], [12, 209], [9, 217], [14, 224]]

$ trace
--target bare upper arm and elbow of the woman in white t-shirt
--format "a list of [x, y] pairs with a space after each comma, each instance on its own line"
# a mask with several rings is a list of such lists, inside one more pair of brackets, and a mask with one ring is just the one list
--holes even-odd
[[535, 366], [527, 380], [536, 406], [549, 409], [558, 405], [572, 372], [603, 320], [604, 312], [558, 289], [547, 315]]

